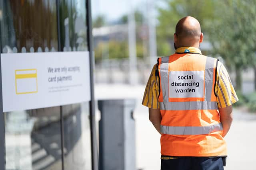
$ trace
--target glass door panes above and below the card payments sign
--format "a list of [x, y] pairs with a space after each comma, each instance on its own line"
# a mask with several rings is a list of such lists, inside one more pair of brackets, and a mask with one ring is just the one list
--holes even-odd
[[[86, 1], [57, 2], [0, 0], [1, 53], [86, 51]], [[6, 170], [91, 170], [89, 109], [83, 102], [5, 112]]]

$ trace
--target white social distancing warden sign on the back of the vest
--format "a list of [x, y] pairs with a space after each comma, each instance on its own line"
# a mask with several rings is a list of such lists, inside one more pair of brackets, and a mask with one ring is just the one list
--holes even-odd
[[203, 98], [204, 71], [170, 71], [169, 98]]

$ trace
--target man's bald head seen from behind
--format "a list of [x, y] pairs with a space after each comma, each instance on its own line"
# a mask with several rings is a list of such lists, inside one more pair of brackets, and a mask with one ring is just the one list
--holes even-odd
[[[196, 18], [186, 16], [178, 21], [174, 34], [174, 43], [179, 47], [195, 45], [199, 47], [202, 42], [203, 35], [201, 33], [200, 23]], [[176, 41], [176, 42], [175, 42]]]

